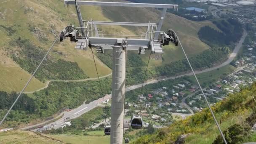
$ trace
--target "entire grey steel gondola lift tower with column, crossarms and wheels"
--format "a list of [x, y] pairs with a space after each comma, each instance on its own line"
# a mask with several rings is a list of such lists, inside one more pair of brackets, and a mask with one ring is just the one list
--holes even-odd
[[[97, 52], [104, 53], [104, 50], [112, 50], [112, 104], [111, 104], [111, 144], [123, 143], [123, 121], [124, 121], [124, 98], [125, 98], [125, 66], [127, 51], [138, 51], [145, 54], [146, 50], [151, 53], [163, 53], [162, 45], [174, 43], [178, 45], [176, 35], [171, 29], [167, 32], [161, 31], [165, 14], [168, 8], [178, 10], [178, 5], [148, 4], [148, 3], [116, 3], [97, 2], [82, 0], [64, 0], [65, 5], [75, 5], [77, 18], [80, 27], [68, 26], [61, 32], [60, 41], [70, 37], [76, 42], [75, 49], [87, 50], [96, 48]], [[158, 23], [138, 23], [138, 22], [113, 22], [113, 21], [92, 21], [83, 20], [79, 5], [94, 6], [115, 6], [115, 7], [141, 7], [141, 8], [162, 8]], [[112, 26], [139, 26], [147, 27], [147, 31], [142, 35], [104, 35], [98, 31], [97, 25]], [[114, 37], [113, 37], [114, 36]], [[136, 38], [129, 38], [136, 37]]]

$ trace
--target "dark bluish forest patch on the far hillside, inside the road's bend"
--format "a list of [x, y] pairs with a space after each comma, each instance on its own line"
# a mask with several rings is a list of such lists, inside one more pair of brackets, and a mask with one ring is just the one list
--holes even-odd
[[[213, 21], [222, 32], [209, 26], [201, 27], [198, 32], [200, 40], [207, 43], [211, 47], [223, 47], [226, 45], [234, 45], [243, 35], [242, 24], [236, 19], [229, 18], [221, 21]], [[230, 46], [232, 48], [232, 46]]]

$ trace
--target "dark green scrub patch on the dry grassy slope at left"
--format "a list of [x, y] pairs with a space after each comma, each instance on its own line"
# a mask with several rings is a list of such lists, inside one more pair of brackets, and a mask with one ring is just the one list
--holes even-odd
[[[13, 52], [12, 58], [23, 69], [29, 73], [34, 72], [41, 59], [46, 54], [43, 48], [39, 48], [32, 44], [29, 40], [21, 40], [20, 38], [10, 43], [13, 47], [18, 46], [21, 48], [19, 53]], [[61, 54], [61, 53], [60, 53]], [[83, 70], [78, 67], [78, 64], [71, 61], [62, 59], [54, 60], [51, 56], [43, 62], [40, 69], [38, 69], [35, 77], [39, 80], [78, 80], [88, 78]]]

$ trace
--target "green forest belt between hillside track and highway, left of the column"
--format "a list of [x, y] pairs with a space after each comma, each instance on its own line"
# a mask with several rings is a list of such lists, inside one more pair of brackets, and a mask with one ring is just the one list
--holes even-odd
[[[32, 96], [23, 94], [15, 107], [8, 115], [5, 124], [16, 127], [19, 123], [29, 123], [36, 118], [47, 118], [63, 108], [76, 108], [81, 104], [89, 103], [111, 93], [111, 80], [101, 80], [103, 94], [98, 81], [76, 83], [51, 82], [48, 88], [33, 93]], [[0, 92], [0, 119], [11, 107], [17, 93]]]

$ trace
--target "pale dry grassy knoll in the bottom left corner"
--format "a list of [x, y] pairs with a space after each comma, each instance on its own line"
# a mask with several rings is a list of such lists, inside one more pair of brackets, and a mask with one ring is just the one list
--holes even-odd
[[0, 133], [1, 144], [64, 144], [62, 141], [41, 133], [8, 131]]

